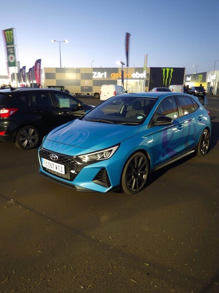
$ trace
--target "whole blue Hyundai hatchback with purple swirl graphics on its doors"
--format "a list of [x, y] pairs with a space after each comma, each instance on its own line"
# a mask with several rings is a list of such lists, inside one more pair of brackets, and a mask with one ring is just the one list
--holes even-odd
[[211, 120], [196, 97], [126, 93], [52, 130], [39, 174], [76, 190], [137, 193], [150, 172], [209, 148]]

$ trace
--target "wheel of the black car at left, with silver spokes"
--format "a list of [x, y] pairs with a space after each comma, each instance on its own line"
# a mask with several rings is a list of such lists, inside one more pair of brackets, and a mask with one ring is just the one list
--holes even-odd
[[39, 144], [39, 131], [32, 125], [22, 127], [15, 138], [15, 145], [19, 149], [34, 149]]

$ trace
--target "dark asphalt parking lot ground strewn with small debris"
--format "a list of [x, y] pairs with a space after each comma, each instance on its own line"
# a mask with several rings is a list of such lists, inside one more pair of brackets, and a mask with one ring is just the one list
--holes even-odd
[[37, 149], [1, 143], [0, 293], [219, 292], [219, 98], [208, 101], [208, 154], [135, 195], [56, 184], [37, 174]]

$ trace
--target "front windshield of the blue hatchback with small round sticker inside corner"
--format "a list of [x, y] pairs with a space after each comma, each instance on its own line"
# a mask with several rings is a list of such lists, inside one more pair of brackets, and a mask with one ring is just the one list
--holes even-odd
[[150, 113], [156, 98], [115, 96], [96, 106], [83, 120], [122, 125], [139, 125]]

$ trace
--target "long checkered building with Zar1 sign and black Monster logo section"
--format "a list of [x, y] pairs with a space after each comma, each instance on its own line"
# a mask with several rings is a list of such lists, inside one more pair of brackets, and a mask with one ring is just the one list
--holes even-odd
[[[124, 88], [128, 92], [150, 91], [154, 87], [183, 84], [185, 68], [125, 67]], [[103, 84], [122, 85], [121, 67], [48, 68], [41, 70], [42, 86], [65, 86], [71, 93], [100, 92]]]

